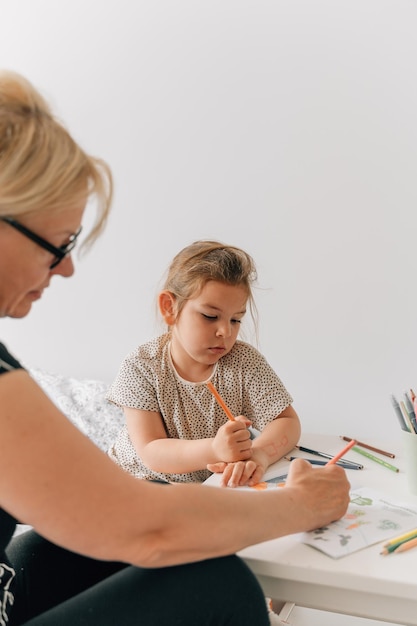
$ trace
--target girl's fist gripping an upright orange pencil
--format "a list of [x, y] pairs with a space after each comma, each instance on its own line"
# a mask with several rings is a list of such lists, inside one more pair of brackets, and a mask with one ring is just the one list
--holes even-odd
[[219, 428], [212, 442], [214, 455], [219, 462], [236, 463], [252, 457], [252, 441], [247, 429], [250, 425], [250, 420], [239, 415]]

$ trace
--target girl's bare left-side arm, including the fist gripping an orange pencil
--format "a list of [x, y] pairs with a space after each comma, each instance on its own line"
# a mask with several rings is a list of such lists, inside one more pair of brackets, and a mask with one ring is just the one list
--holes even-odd
[[173, 439], [167, 437], [159, 413], [128, 407], [123, 410], [129, 437], [138, 456], [155, 472], [194, 472], [219, 461], [251, 458], [247, 420], [226, 422], [216, 437]]

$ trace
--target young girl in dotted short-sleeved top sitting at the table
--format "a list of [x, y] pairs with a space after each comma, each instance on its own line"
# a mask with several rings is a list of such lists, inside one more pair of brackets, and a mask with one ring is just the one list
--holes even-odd
[[[223, 486], [251, 486], [297, 443], [290, 394], [238, 340], [247, 308], [256, 323], [255, 280], [251, 256], [216, 241], [197, 241], [172, 261], [158, 297], [168, 332], [127, 356], [107, 396], [126, 416], [109, 455], [134, 476], [201, 482], [216, 471]], [[250, 426], [261, 431], [254, 439]]]

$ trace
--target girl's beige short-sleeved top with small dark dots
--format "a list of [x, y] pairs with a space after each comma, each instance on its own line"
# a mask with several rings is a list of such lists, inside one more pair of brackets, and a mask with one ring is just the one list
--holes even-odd
[[[243, 341], [237, 341], [218, 361], [210, 380], [233, 415], [245, 415], [258, 430], [292, 403], [266, 359]], [[192, 383], [177, 374], [170, 358], [169, 334], [164, 334], [126, 357], [107, 398], [120, 407], [159, 413], [168, 437], [204, 439], [214, 437], [227, 421], [204, 382]], [[126, 426], [109, 456], [134, 476], [148, 480], [202, 482], [210, 476], [205, 467], [183, 474], [154, 472], [138, 457]]]

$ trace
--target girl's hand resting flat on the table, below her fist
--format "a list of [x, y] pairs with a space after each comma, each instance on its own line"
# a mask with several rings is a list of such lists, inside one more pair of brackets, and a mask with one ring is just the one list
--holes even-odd
[[248, 461], [235, 463], [213, 463], [207, 469], [214, 473], [222, 473], [222, 487], [252, 487], [259, 483], [268, 467], [268, 459], [261, 450], [252, 449], [252, 458]]

